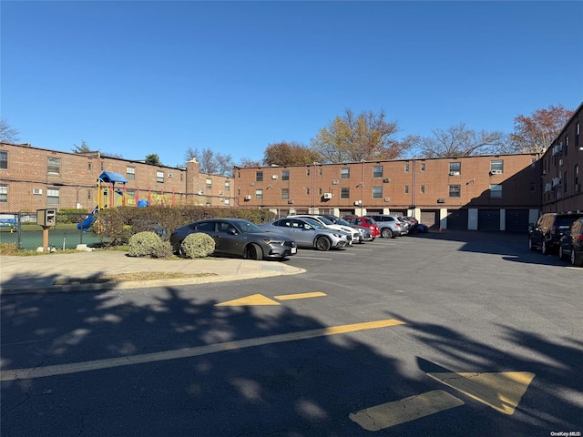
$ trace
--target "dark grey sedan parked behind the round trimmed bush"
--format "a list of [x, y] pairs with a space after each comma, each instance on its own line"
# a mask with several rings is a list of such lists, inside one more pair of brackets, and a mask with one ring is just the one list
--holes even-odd
[[170, 244], [181, 254], [187, 235], [203, 232], [215, 240], [214, 254], [236, 255], [244, 259], [284, 259], [295, 255], [295, 241], [283, 234], [268, 233], [243, 219], [205, 219], [174, 229]]

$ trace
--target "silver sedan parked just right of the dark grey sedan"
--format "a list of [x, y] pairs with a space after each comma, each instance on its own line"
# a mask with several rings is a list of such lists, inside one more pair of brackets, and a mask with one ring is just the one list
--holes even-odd
[[342, 230], [325, 228], [315, 220], [301, 217], [275, 219], [268, 223], [263, 223], [259, 227], [264, 231], [286, 235], [295, 240], [298, 247], [303, 248], [318, 250], [340, 249], [348, 246], [348, 242], [352, 240], [351, 234], [347, 234]]

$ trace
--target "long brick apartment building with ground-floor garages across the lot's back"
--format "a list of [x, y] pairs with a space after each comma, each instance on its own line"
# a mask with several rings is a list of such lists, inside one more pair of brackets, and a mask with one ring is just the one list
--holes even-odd
[[526, 230], [540, 209], [537, 154], [235, 168], [240, 205], [401, 214], [434, 229]]

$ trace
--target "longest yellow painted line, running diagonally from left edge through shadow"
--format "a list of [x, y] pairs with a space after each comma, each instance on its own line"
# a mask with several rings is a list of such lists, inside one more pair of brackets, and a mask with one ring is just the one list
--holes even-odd
[[210, 353], [235, 351], [266, 344], [282, 343], [286, 341], [310, 340], [329, 335], [343, 334], [358, 330], [373, 330], [386, 328], [394, 325], [402, 325], [400, 320], [377, 320], [364, 323], [354, 323], [351, 325], [330, 326], [317, 330], [302, 330], [300, 332], [290, 332], [287, 334], [270, 335], [257, 339], [226, 341], [223, 343], [209, 344], [196, 348], [185, 348], [177, 351], [162, 351], [145, 353], [142, 355], [129, 355], [127, 357], [110, 358], [105, 360], [83, 361], [71, 364], [61, 364], [56, 366], [33, 367], [28, 369], [15, 369], [0, 371], [0, 381], [26, 380], [33, 378], [43, 378], [47, 376], [64, 375], [78, 373], [81, 371], [97, 371], [101, 369], [111, 369], [114, 367], [131, 366], [156, 361], [177, 360], [180, 358], [198, 357]]

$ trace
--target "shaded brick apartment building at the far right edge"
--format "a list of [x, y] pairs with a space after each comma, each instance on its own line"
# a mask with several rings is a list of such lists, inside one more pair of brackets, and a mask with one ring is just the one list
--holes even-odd
[[583, 209], [583, 104], [541, 158], [542, 211]]

